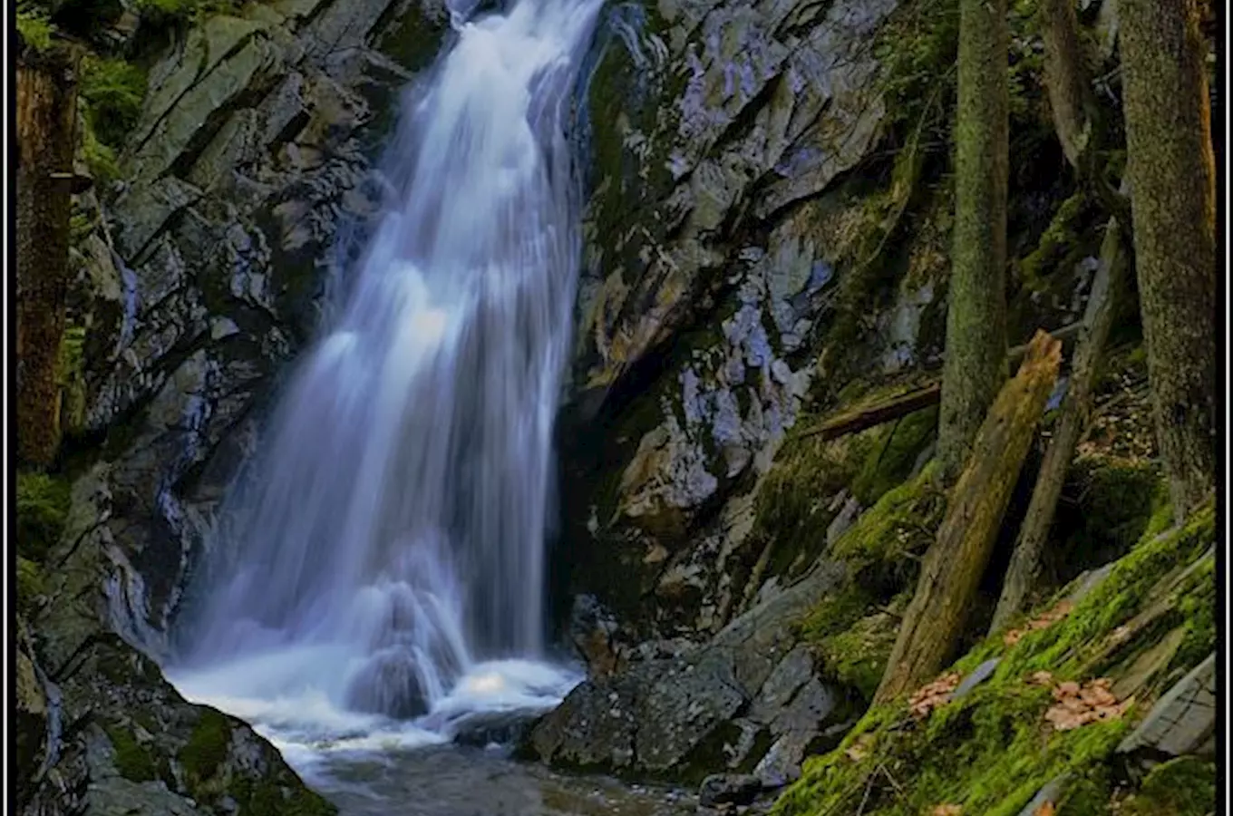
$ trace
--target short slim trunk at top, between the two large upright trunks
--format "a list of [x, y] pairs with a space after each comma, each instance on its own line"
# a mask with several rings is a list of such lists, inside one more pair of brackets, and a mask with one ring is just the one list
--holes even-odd
[[1044, 86], [1053, 111], [1053, 127], [1062, 150], [1074, 168], [1091, 139], [1092, 122], [1088, 69], [1079, 43], [1079, 20], [1073, 0], [1041, 0], [1041, 37], [1044, 41]]

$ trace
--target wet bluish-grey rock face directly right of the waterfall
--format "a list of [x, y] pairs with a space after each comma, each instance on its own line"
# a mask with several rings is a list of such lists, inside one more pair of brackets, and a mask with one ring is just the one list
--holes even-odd
[[[820, 373], [842, 232], [826, 194], [877, 139], [870, 43], [894, 7], [666, 0], [600, 27], [559, 557], [561, 592], [639, 639], [742, 608], [752, 488]], [[880, 327], [898, 346], [930, 301], [905, 298]]]

